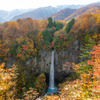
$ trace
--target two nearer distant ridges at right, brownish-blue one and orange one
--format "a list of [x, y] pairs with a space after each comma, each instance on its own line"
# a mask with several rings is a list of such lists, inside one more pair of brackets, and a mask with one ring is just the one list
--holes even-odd
[[[85, 14], [85, 13], [96, 13], [97, 14], [99, 13], [99, 11], [100, 11], [100, 3], [98, 2], [98, 3], [86, 5], [79, 9], [66, 8], [48, 17], [52, 17], [54, 20], [68, 21], [72, 18], [77, 19], [81, 14]], [[48, 17], [44, 19], [47, 19]]]

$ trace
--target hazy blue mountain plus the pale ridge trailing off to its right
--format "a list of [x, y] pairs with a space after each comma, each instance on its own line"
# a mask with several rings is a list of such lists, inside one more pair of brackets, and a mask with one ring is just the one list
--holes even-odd
[[60, 5], [57, 7], [41, 7], [41, 8], [37, 8], [33, 11], [15, 16], [12, 21], [16, 21], [17, 19], [22, 19], [22, 18], [27, 18], [30, 17], [32, 19], [43, 19], [44, 17], [48, 17], [51, 16], [52, 14], [57, 13], [58, 11], [64, 9], [64, 8], [80, 8], [83, 5]]

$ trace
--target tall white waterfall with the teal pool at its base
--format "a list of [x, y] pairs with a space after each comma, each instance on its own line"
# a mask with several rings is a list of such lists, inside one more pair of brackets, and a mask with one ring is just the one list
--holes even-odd
[[57, 92], [57, 88], [54, 85], [54, 50], [52, 50], [51, 67], [50, 67], [50, 75], [49, 75], [49, 88], [47, 90], [47, 94], [53, 94], [56, 92]]

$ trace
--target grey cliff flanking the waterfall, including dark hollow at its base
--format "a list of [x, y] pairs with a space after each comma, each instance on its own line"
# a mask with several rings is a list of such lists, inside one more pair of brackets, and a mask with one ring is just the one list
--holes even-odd
[[[80, 43], [75, 41], [70, 44], [70, 48], [66, 51], [62, 50], [57, 52], [55, 50], [54, 67], [55, 67], [55, 81], [58, 84], [62, 82], [68, 75], [73, 72], [72, 63], [81, 62], [80, 56]], [[27, 77], [29, 75], [35, 75], [36, 77], [44, 72], [46, 75], [46, 81], [49, 82], [49, 69], [51, 65], [51, 51], [39, 51], [39, 55], [36, 58], [28, 59], [26, 63], [22, 64], [22, 71], [27, 72]], [[9, 58], [8, 67], [13, 65], [13, 63], [18, 63], [13, 58]], [[19, 65], [18, 65], [19, 66]], [[19, 66], [20, 67], [20, 66]]]

